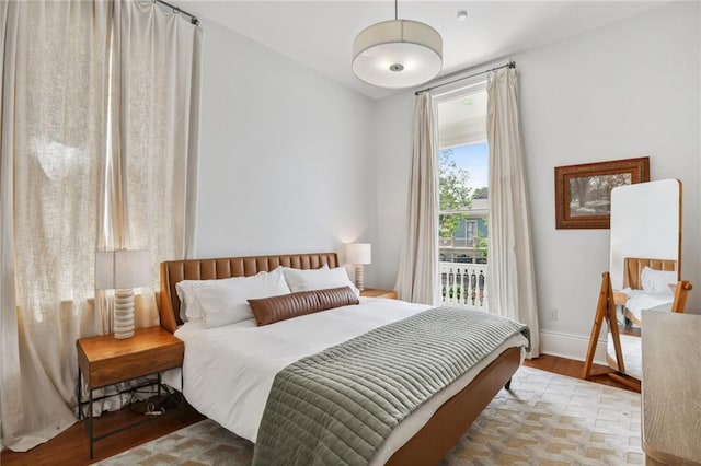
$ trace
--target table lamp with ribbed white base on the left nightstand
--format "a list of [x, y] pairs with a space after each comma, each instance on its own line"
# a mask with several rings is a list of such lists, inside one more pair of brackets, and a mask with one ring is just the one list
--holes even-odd
[[114, 337], [134, 336], [134, 288], [151, 281], [151, 254], [148, 251], [97, 251], [95, 289], [114, 292]]

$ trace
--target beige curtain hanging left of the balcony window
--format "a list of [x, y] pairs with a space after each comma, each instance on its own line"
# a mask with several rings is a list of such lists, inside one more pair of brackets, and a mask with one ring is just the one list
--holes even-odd
[[440, 302], [437, 141], [433, 97], [422, 92], [414, 103], [407, 224], [394, 289], [401, 300], [430, 305]]

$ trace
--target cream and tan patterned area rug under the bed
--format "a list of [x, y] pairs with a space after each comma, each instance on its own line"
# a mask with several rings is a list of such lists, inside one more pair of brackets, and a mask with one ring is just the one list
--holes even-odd
[[[643, 464], [640, 394], [522, 366], [441, 465]], [[253, 444], [211, 420], [100, 465], [250, 465]]]

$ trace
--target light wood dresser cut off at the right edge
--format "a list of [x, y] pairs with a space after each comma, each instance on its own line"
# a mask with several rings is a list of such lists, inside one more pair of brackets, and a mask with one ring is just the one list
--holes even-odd
[[647, 465], [701, 465], [701, 315], [643, 311]]

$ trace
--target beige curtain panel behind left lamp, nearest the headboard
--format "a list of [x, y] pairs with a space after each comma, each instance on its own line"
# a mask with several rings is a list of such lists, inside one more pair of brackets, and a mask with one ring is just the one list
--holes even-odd
[[[115, 3], [106, 225], [100, 248], [151, 251], [137, 327], [159, 322], [162, 260], [194, 247], [203, 30], [152, 1]], [[113, 221], [110, 221], [113, 219]]]

